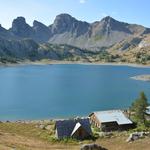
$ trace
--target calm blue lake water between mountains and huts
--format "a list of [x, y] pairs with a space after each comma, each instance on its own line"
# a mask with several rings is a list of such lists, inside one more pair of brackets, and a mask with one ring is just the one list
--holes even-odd
[[150, 68], [110, 65], [27, 65], [0, 67], [0, 120], [84, 116], [127, 108], [150, 82], [130, 77]]

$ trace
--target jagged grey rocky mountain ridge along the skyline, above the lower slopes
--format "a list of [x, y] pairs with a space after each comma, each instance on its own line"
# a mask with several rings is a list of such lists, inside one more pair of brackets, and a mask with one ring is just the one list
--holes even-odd
[[89, 50], [101, 50], [130, 36], [150, 33], [149, 28], [119, 22], [110, 16], [101, 21], [87, 23], [79, 21], [69, 14], [56, 16], [54, 23], [50, 26], [38, 21], [34, 21], [33, 26], [30, 26], [26, 23], [25, 18], [18, 17], [14, 19], [12, 27], [8, 31], [4, 28], [1, 30], [0, 36], [5, 39], [9, 36], [11, 39], [30, 38], [37, 43], [68, 44]]

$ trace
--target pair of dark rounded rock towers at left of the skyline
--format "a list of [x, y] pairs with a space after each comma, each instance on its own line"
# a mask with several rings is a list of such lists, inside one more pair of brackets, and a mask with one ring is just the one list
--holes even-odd
[[9, 32], [14, 37], [17, 37], [17, 39], [30, 38], [38, 43], [47, 42], [51, 35], [47, 26], [35, 20], [33, 22], [33, 27], [31, 27], [26, 23], [24, 17], [18, 17], [15, 19]]

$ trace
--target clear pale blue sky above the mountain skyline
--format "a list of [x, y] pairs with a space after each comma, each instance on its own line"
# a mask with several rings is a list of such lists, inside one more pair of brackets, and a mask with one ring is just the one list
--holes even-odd
[[38, 20], [46, 25], [56, 15], [69, 13], [79, 20], [94, 22], [105, 16], [150, 27], [150, 0], [0, 0], [0, 24], [9, 28], [17, 16], [32, 25]]

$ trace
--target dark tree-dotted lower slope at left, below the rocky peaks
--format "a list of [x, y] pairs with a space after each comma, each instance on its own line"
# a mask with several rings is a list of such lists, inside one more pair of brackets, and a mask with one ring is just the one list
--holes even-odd
[[38, 44], [31, 39], [6, 40], [0, 38], [0, 62], [64, 60], [93, 62], [95, 58], [107, 58], [107, 52], [92, 52], [70, 45]]

